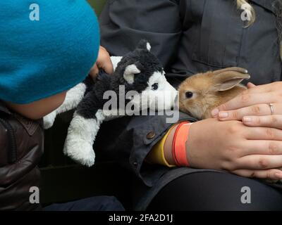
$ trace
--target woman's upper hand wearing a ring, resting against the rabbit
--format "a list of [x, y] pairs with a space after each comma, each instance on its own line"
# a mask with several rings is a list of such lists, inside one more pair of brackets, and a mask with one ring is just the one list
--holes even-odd
[[226, 121], [242, 120], [247, 115], [270, 115], [270, 103], [273, 104], [274, 114], [282, 115], [282, 82], [260, 86], [249, 83], [248, 88], [231, 101], [213, 110], [213, 117]]

